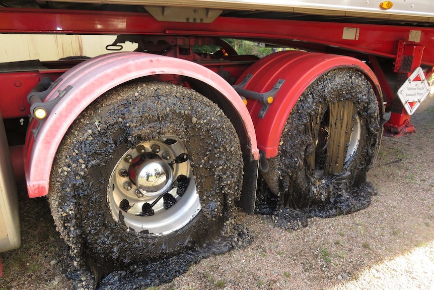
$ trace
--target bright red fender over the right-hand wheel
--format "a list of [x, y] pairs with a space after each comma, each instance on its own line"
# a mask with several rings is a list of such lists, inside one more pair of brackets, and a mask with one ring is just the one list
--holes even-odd
[[279, 79], [284, 80], [263, 119], [258, 117], [262, 104], [248, 99], [247, 108], [255, 125], [258, 148], [265, 152], [267, 158], [277, 155], [286, 119], [306, 88], [324, 73], [341, 67], [354, 68], [363, 73], [371, 82], [382, 108], [382, 93], [374, 72], [363, 62], [349, 56], [281, 51], [264, 57], [238, 79], [240, 83], [247, 74], [252, 74], [244, 88], [258, 93], [268, 92]]

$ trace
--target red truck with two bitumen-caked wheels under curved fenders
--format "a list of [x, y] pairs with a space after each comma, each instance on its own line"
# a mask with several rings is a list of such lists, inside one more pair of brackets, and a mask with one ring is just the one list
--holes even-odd
[[[364, 190], [383, 134], [414, 132], [410, 115], [434, 99], [423, 0], [0, 6], [3, 36], [137, 45], [0, 64], [0, 251], [20, 246], [22, 177], [29, 197], [48, 195], [71, 254], [115, 265], [209, 243], [271, 195], [275, 208], [350, 212], [334, 201]], [[275, 52], [240, 55], [234, 39]]]

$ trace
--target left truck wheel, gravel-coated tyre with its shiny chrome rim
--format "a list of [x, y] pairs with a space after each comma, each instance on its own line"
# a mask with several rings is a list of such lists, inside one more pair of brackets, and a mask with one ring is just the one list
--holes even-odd
[[242, 170], [237, 133], [218, 106], [181, 86], [134, 82], [105, 93], [71, 125], [49, 202], [73, 256], [116, 268], [220, 236]]

